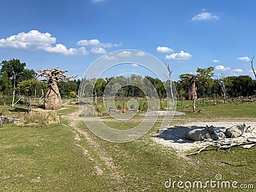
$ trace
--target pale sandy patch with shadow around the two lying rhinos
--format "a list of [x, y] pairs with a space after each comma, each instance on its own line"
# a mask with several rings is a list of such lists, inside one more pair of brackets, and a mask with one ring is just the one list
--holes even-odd
[[[240, 125], [243, 124], [243, 122], [240, 121], [230, 121], [230, 122], [187, 122], [184, 124], [179, 125], [173, 125], [172, 127], [169, 127], [166, 130], [159, 131], [158, 134], [155, 137], [152, 137], [152, 140], [154, 140], [157, 143], [161, 143], [164, 146], [172, 147], [175, 149], [179, 154], [180, 153], [186, 153], [188, 150], [191, 150], [193, 148], [200, 148], [207, 145], [207, 141], [191, 141], [187, 140], [185, 135], [186, 132], [190, 131], [191, 129], [197, 129], [197, 128], [203, 128], [206, 127], [206, 125], [213, 125], [216, 128], [221, 129], [225, 132], [225, 129], [228, 127], [231, 127], [232, 125]], [[246, 125], [251, 125], [252, 128], [256, 127], [256, 122], [245, 122]], [[252, 133], [250, 132], [244, 132], [243, 136], [236, 138], [236, 139], [230, 139], [225, 138], [225, 140], [246, 140], [246, 138], [249, 137], [256, 137], [256, 128], [253, 130]]]

